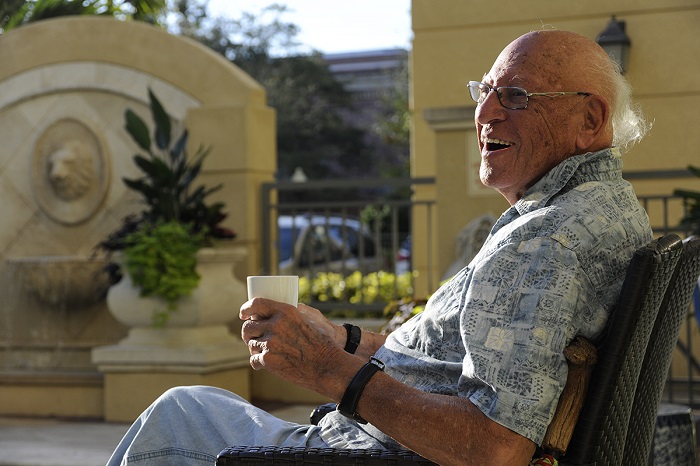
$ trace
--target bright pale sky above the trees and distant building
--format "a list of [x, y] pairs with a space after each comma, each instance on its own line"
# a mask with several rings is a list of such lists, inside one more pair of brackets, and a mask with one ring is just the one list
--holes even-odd
[[297, 39], [309, 49], [342, 53], [411, 48], [410, 0], [209, 0], [209, 11], [237, 19], [272, 3], [289, 8], [282, 20], [299, 26]]

